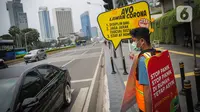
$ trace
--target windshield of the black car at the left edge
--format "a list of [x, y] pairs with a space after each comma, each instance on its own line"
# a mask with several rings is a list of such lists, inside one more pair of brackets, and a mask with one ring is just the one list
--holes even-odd
[[0, 112], [6, 112], [10, 108], [17, 79], [0, 79]]

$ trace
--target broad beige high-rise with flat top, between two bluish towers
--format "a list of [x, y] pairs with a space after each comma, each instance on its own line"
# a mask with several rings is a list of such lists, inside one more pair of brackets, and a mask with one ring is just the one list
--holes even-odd
[[71, 8], [53, 9], [53, 19], [56, 37], [69, 36], [74, 32]]

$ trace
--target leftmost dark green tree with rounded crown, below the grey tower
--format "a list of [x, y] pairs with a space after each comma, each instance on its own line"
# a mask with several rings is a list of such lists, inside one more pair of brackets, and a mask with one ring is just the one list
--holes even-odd
[[14, 44], [18, 46], [18, 41], [17, 41], [18, 38], [17, 37], [19, 37], [19, 36], [17, 36], [17, 35], [20, 34], [20, 29], [16, 26], [11, 26], [8, 32], [14, 38]]

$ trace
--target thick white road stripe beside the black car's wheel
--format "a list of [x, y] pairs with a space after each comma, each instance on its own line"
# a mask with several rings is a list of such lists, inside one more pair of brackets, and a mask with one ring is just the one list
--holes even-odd
[[76, 97], [76, 100], [70, 112], [82, 112], [87, 93], [88, 93], [88, 87], [80, 89], [79, 94]]

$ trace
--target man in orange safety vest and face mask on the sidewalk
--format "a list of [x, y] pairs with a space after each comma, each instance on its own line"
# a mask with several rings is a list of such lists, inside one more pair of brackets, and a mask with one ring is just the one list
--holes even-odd
[[[151, 46], [149, 29], [135, 28], [130, 31], [130, 34], [137, 49], [141, 50], [138, 55], [136, 74], [134, 75], [136, 102], [140, 112], [152, 112], [152, 100], [145, 59], [155, 55], [158, 51]], [[132, 53], [130, 56], [134, 57]]]

